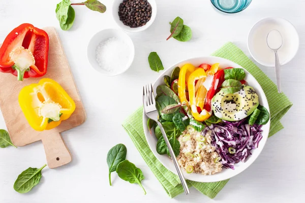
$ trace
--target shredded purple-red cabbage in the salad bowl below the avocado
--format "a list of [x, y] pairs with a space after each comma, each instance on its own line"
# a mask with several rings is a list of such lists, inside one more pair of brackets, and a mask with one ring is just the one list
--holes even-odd
[[[223, 121], [223, 123], [212, 124], [203, 130], [203, 134], [210, 129], [214, 134], [212, 145], [222, 158], [222, 164], [225, 168], [234, 170], [234, 163], [245, 162], [245, 159], [251, 155], [251, 150], [258, 147], [262, 139], [262, 125], [253, 126], [242, 119], [236, 122]], [[229, 148], [231, 148], [231, 153]]]

